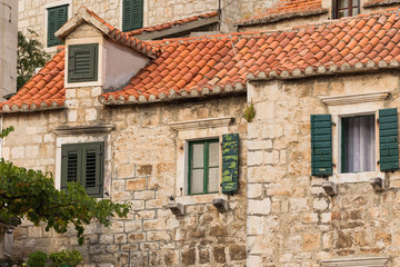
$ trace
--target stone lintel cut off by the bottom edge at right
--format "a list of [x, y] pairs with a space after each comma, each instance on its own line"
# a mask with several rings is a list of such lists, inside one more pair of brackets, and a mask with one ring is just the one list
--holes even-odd
[[388, 257], [379, 257], [379, 258], [350, 258], [350, 259], [330, 259], [330, 260], [321, 260], [322, 267], [331, 267], [331, 266], [352, 266], [352, 267], [384, 267], [389, 261]]

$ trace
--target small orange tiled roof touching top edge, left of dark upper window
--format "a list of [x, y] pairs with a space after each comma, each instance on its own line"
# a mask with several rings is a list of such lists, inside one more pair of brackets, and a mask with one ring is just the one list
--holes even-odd
[[274, 22], [299, 16], [312, 16], [328, 12], [321, 8], [321, 0], [278, 0], [271, 8], [256, 16], [237, 21], [237, 26]]

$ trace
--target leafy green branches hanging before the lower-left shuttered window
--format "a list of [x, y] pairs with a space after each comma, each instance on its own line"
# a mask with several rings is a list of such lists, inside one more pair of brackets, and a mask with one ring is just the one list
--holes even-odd
[[46, 230], [67, 231], [68, 224], [77, 230], [79, 244], [83, 243], [84, 225], [97, 219], [109, 226], [110, 216], [126, 217], [130, 204], [113, 204], [109, 199], [94, 199], [86, 194], [79, 182], [69, 182], [67, 191], [54, 187], [51, 174], [24, 169], [0, 160], [0, 218], [20, 222], [24, 217], [34, 225], [46, 222]]

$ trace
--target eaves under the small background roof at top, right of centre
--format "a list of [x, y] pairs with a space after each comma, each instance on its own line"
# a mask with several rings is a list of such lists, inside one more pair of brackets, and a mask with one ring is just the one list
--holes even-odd
[[286, 19], [294, 19], [294, 18], [307, 18], [317, 14], [323, 14], [329, 12], [329, 9], [318, 9], [312, 11], [304, 11], [304, 12], [293, 12], [293, 13], [284, 13], [284, 14], [273, 14], [273, 16], [266, 16], [261, 19], [250, 19], [246, 21], [238, 21], [234, 23], [236, 27], [238, 26], [252, 26], [252, 24], [268, 24], [272, 22], [278, 22]]

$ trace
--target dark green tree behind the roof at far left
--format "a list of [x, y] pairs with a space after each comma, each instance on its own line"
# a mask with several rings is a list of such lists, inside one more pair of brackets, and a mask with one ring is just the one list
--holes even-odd
[[28, 34], [18, 31], [17, 90], [32, 78], [36, 68], [43, 67], [50, 59], [41, 42], [33, 38], [37, 33], [28, 29]]

